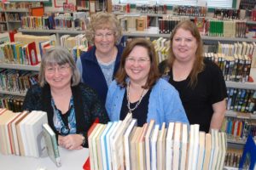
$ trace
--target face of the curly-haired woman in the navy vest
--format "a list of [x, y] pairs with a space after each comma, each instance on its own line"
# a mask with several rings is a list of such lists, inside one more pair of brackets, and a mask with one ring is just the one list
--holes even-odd
[[111, 53], [114, 47], [115, 39], [112, 30], [106, 29], [97, 29], [95, 31], [94, 44], [96, 50], [101, 54]]

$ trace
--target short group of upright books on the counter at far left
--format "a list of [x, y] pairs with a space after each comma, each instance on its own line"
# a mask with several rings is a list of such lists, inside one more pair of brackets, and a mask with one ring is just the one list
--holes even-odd
[[0, 153], [16, 156], [42, 156], [45, 150], [42, 125], [47, 122], [47, 114], [43, 111], [15, 113], [1, 109]]

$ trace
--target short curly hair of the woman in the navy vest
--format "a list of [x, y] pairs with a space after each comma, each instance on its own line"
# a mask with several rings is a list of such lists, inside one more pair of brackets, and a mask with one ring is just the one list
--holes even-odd
[[89, 42], [94, 43], [95, 32], [98, 29], [109, 29], [114, 33], [115, 44], [118, 44], [122, 37], [122, 26], [115, 14], [99, 12], [91, 16], [90, 25], [85, 31], [85, 36]]

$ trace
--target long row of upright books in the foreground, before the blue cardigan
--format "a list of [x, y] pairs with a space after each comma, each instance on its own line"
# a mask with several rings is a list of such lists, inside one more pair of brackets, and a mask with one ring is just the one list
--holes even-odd
[[154, 120], [137, 127], [130, 113], [123, 121], [95, 123], [89, 132], [90, 169], [221, 169], [225, 133], [199, 131], [199, 125]]

